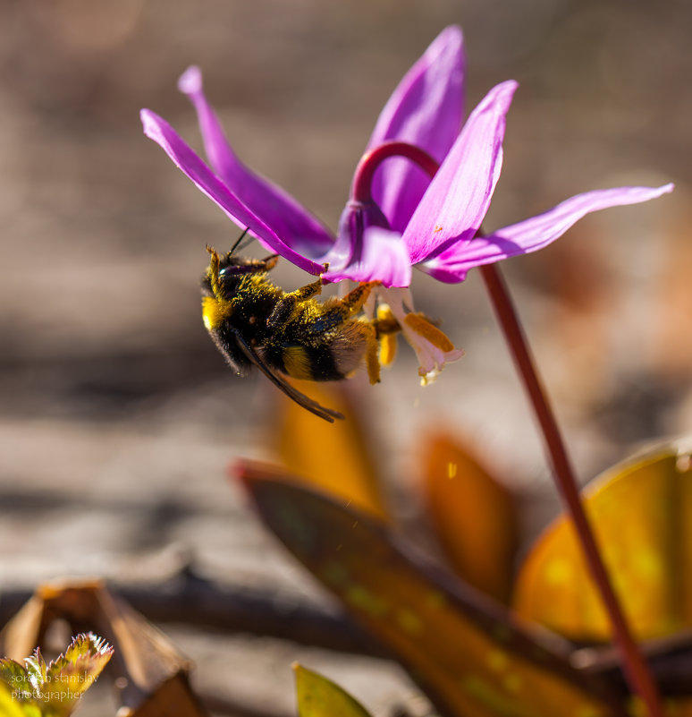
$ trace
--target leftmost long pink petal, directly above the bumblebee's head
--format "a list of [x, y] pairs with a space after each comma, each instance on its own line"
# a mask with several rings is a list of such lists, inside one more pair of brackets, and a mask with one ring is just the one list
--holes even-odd
[[221, 180], [209, 169], [209, 167], [198, 158], [197, 154], [190, 149], [190, 146], [181, 140], [173, 127], [164, 119], [143, 109], [140, 113], [144, 133], [158, 143], [165, 153], [173, 159], [173, 163], [187, 175], [192, 182], [197, 184], [198, 189], [207, 194], [211, 200], [224, 209], [224, 212], [243, 229], [247, 226], [249, 231], [257, 236], [267, 249], [280, 254], [291, 261], [300, 269], [311, 274], [319, 274], [323, 267], [314, 261], [305, 259], [298, 252], [293, 251], [290, 246], [274, 233], [273, 229], [266, 226], [248, 207], [246, 207]]

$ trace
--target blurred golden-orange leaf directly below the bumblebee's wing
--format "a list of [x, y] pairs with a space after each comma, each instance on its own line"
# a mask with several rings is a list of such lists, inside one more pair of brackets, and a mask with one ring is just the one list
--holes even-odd
[[386, 511], [364, 418], [352, 392], [337, 384], [291, 380], [301, 392], [344, 415], [327, 423], [277, 393], [270, 445], [278, 462], [347, 505], [384, 517]]

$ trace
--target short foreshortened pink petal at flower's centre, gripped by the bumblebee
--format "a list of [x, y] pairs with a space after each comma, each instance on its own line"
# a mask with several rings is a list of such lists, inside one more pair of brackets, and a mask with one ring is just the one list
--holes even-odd
[[[340, 257], [331, 258], [330, 269], [323, 274], [329, 281], [379, 281], [383, 286], [409, 286], [411, 265], [401, 235], [381, 226], [368, 226], [363, 233], [359, 258], [339, 266]], [[324, 260], [330, 262], [327, 254]]]

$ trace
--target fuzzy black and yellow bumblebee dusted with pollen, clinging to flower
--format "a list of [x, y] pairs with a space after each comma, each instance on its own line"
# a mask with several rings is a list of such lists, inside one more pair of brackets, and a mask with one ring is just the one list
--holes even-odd
[[[333, 423], [343, 415], [319, 405], [284, 378], [342, 380], [363, 363], [371, 383], [379, 381], [378, 337], [399, 330], [395, 321], [377, 326], [358, 318], [376, 282], [356, 286], [342, 299], [316, 300], [322, 279], [284, 292], [267, 272], [278, 256], [254, 260], [220, 256], [207, 247], [209, 267], [202, 277], [204, 325], [226, 361], [239, 375], [252, 365], [296, 403]], [[394, 325], [396, 324], [396, 325]]]

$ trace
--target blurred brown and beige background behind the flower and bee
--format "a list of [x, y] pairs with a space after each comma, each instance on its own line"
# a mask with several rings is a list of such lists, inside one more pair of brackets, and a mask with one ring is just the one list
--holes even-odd
[[[335, 228], [385, 100], [451, 23], [467, 113], [520, 83], [487, 228], [589, 189], [677, 185], [502, 267], [579, 476], [689, 430], [688, 0], [0, 0], [0, 590], [156, 580], [191, 556], [221, 581], [322, 599], [224, 478], [234, 456], [270, 457], [276, 399], [228, 371], [200, 321], [205, 244], [238, 230], [143, 136], [139, 108], [199, 148], [176, 90], [198, 64], [241, 158]], [[287, 289], [305, 280], [277, 270]], [[414, 292], [466, 357], [420, 388], [401, 346], [382, 384], [354, 381], [393, 494], [406, 504], [423, 432], [457, 426], [528, 496], [536, 533], [557, 508], [479, 277], [419, 275]], [[201, 688], [261, 686], [267, 710], [291, 711], [290, 645], [177, 639]], [[232, 677], [209, 667], [222, 653]], [[380, 663], [324, 671], [380, 713], [412, 689]]]

